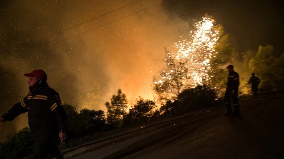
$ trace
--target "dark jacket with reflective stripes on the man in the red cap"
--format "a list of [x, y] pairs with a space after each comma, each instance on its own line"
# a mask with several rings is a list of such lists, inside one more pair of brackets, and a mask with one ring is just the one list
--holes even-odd
[[29, 88], [29, 94], [2, 116], [4, 120], [10, 121], [19, 114], [28, 112], [32, 131], [55, 129], [65, 132], [67, 115], [59, 94], [47, 83], [36, 83]]

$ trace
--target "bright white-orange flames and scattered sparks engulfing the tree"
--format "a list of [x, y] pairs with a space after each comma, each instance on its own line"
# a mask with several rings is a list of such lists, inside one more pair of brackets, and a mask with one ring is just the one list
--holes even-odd
[[[168, 53], [167, 61], [173, 58], [177, 63], [185, 63], [185, 68], [188, 70], [185, 76], [182, 76], [182, 83], [187, 87], [195, 87], [200, 84], [208, 82], [213, 75], [209, 76], [211, 71], [211, 58], [216, 58], [217, 52], [213, 49], [219, 39], [219, 31], [214, 29], [214, 20], [203, 17], [201, 21], [196, 23], [196, 29], [190, 31], [191, 39], [180, 39], [175, 43], [174, 47], [178, 49], [177, 52]], [[181, 37], [181, 36], [180, 36]], [[172, 63], [166, 63], [166, 66]], [[160, 81], [155, 81], [155, 84], [162, 84], [165, 80], [171, 80], [171, 73], [181, 70], [166, 70], [160, 77]], [[190, 77], [190, 78], [186, 78]], [[173, 91], [170, 89], [169, 91]]]

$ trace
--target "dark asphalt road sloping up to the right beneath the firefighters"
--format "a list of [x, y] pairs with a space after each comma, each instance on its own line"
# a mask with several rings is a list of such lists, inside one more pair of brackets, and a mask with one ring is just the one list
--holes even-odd
[[284, 94], [244, 101], [238, 118], [216, 108], [76, 158], [284, 158], [283, 103]]

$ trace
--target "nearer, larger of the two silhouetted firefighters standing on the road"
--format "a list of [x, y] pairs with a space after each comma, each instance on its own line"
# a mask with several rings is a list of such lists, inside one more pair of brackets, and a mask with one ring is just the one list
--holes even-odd
[[[228, 68], [229, 75], [227, 78], [227, 89], [225, 93], [225, 104], [227, 108], [227, 113], [225, 116], [234, 115], [239, 116], [239, 101], [238, 101], [238, 89], [239, 89], [239, 74], [234, 71], [234, 66], [229, 65]], [[234, 112], [231, 107], [230, 99], [233, 98]]]

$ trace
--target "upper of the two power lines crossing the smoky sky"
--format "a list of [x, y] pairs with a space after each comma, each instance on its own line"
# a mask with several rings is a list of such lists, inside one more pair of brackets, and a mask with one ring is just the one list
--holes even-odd
[[44, 40], [47, 39], [47, 38], [51, 38], [51, 37], [53, 37], [53, 36], [55, 36], [55, 35], [57, 35], [57, 34], [63, 33], [63, 32], [65, 32], [65, 31], [68, 31], [68, 30], [70, 30], [70, 29], [73, 29], [73, 28], [75, 28], [75, 27], [77, 27], [77, 26], [80, 26], [80, 25], [82, 25], [82, 24], [85, 24], [85, 23], [87, 23], [87, 22], [89, 22], [89, 21], [92, 21], [92, 20], [94, 20], [94, 19], [100, 18], [100, 17], [102, 17], [102, 16], [105, 16], [105, 15], [107, 15], [107, 14], [110, 14], [110, 13], [112, 13], [112, 12], [118, 11], [118, 10], [120, 10], [120, 9], [123, 9], [123, 8], [125, 8], [125, 7], [131, 6], [131, 5], [136, 4], [136, 3], [138, 3], [138, 2], [141, 2], [141, 1], [144, 1], [144, 0], [136, 0], [136, 1], [133, 1], [133, 2], [131, 2], [131, 3], [129, 3], [129, 4], [126, 4], [126, 5], [122, 6], [122, 7], [119, 7], [119, 8], [117, 8], [117, 9], [113, 10], [113, 11], [107, 12], [107, 13], [105, 13], [105, 14], [102, 14], [102, 15], [100, 15], [100, 16], [97, 16], [97, 17], [95, 17], [95, 18], [93, 18], [93, 19], [90, 19], [90, 20], [88, 20], [88, 21], [84, 21], [83, 23], [77, 24], [77, 25], [75, 25], [75, 26], [71, 26], [71, 27], [69, 27], [69, 28], [63, 29], [63, 30], [61, 30], [61, 31], [58, 31], [58, 32], [56, 32], [56, 33], [53, 33], [53, 34], [50, 34], [50, 35], [47, 35], [47, 36], [44, 36], [44, 37], [42, 37], [41, 40], [38, 41], [37, 43], [42, 42], [42, 41], [44, 41]]

